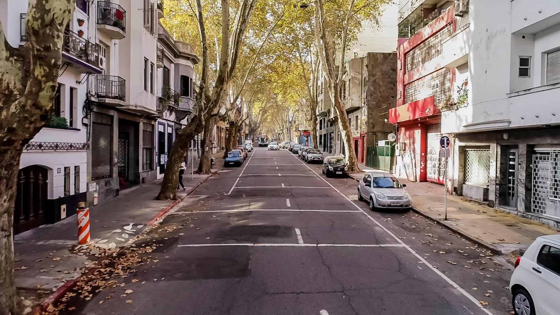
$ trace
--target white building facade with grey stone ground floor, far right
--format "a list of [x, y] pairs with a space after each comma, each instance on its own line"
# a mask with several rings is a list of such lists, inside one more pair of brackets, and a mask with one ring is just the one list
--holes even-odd
[[466, 21], [442, 44], [454, 191], [559, 228], [560, 2], [461, 4]]

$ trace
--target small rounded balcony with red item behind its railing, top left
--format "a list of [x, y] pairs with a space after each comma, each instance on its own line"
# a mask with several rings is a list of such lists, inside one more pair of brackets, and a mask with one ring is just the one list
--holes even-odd
[[97, 29], [111, 39], [123, 39], [126, 36], [127, 11], [116, 3], [97, 2]]

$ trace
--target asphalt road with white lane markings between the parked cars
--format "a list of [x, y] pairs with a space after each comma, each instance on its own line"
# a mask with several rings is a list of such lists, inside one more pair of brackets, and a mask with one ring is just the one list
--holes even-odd
[[508, 266], [414, 213], [364, 211], [355, 189], [290, 152], [255, 148], [241, 167], [201, 185], [159, 231], [184, 228], [152, 231], [155, 261], [139, 266], [133, 283], [124, 280], [134, 293], [105, 289], [75, 313], [510, 311]]

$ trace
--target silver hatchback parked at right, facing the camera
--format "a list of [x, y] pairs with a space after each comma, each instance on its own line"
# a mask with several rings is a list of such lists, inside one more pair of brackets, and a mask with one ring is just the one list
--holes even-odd
[[395, 176], [384, 172], [367, 172], [358, 185], [358, 200], [367, 200], [376, 208], [410, 209], [412, 199]]

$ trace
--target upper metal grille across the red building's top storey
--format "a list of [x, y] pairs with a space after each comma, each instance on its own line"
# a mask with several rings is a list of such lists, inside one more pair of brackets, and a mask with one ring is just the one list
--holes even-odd
[[418, 68], [420, 65], [441, 55], [444, 39], [453, 34], [453, 23], [450, 22], [443, 29], [410, 50], [405, 55], [406, 72]]

